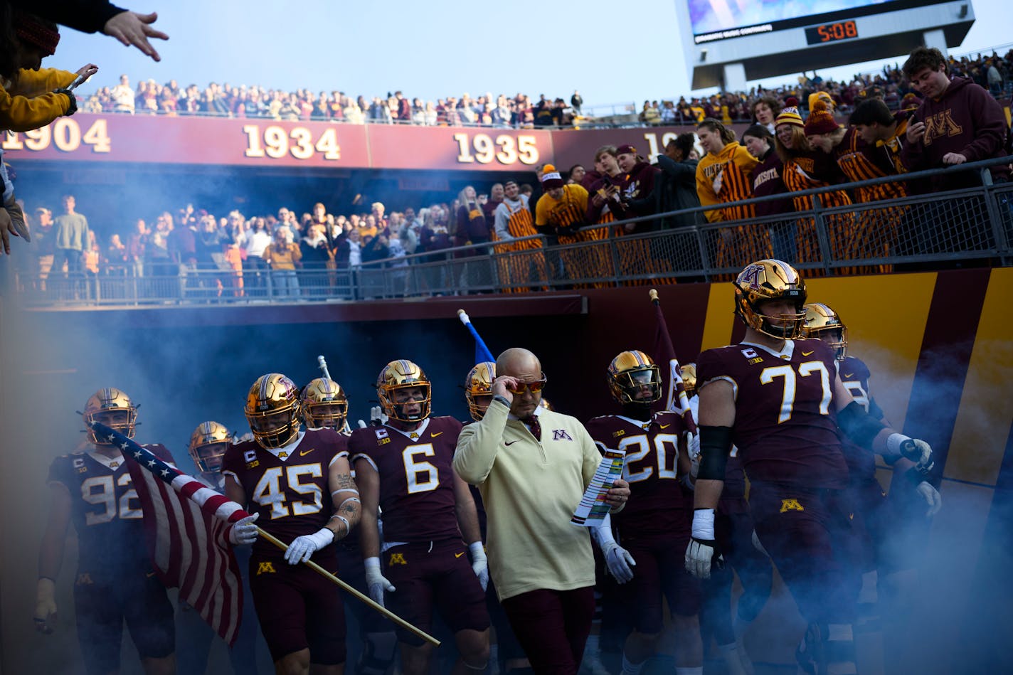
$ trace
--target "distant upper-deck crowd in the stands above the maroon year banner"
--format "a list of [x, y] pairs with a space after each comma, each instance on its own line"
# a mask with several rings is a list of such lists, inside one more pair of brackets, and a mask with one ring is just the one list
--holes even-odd
[[[1013, 91], [1013, 50], [1000, 56], [949, 57], [950, 70], [970, 78], [996, 97]], [[767, 97], [795, 97], [807, 109], [809, 97], [821, 91], [833, 98], [839, 109], [850, 110], [864, 98], [881, 96], [890, 109], [899, 109], [912, 88], [898, 66], [880, 73], [855, 74], [849, 81], [824, 80], [815, 71], [802, 73], [798, 83], [772, 89], [755, 87], [749, 92], [715, 93], [710, 96], [680, 96], [678, 99], [645, 100], [638, 120], [645, 125], [687, 125], [704, 118], [724, 124], [746, 122], [755, 117], [756, 105]], [[210, 83], [203, 89], [197, 84], [181, 87], [176, 80], [159, 84], [141, 80], [134, 87], [128, 75], [121, 75], [115, 86], [104, 86], [81, 97], [79, 105], [89, 113], [130, 115], [202, 115], [275, 120], [315, 120], [352, 124], [412, 124], [424, 126], [494, 126], [541, 127], [569, 126], [583, 122], [583, 100], [578, 91], [569, 98], [542, 94], [533, 101], [527, 94], [514, 96], [485, 93], [472, 98], [468, 93], [450, 95], [436, 101], [409, 98], [401, 91], [386, 96], [353, 97], [343, 91], [320, 91], [306, 88], [295, 91], [258, 85]]]

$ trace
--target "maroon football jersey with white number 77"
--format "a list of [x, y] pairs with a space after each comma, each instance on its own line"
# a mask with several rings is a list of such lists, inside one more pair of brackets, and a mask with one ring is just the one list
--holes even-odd
[[837, 435], [834, 353], [820, 340], [787, 341], [780, 354], [742, 343], [707, 350], [697, 361], [701, 386], [734, 387], [738, 446], [751, 480], [844, 488], [848, 467]]

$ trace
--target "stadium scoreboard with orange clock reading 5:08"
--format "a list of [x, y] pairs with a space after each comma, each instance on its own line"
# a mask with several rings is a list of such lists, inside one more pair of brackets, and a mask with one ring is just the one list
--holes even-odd
[[694, 89], [957, 47], [970, 0], [676, 0]]

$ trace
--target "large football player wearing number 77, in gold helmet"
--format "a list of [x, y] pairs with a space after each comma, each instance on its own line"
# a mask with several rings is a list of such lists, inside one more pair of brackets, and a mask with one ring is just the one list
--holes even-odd
[[710, 576], [720, 551], [714, 510], [732, 444], [750, 475], [756, 532], [808, 622], [796, 657], [808, 672], [854, 672], [851, 617], [858, 588], [848, 574], [857, 554], [845, 489], [848, 467], [838, 428], [857, 445], [929, 470], [932, 449], [869, 416], [837, 373], [833, 350], [796, 340], [805, 284], [790, 265], [762, 259], [732, 282], [746, 324], [738, 345], [697, 361], [700, 470], [686, 566]]

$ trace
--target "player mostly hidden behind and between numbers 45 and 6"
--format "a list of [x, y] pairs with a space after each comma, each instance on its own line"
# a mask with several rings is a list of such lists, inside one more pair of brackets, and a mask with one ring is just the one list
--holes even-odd
[[[300, 394], [300, 408], [303, 422], [311, 429], [327, 428], [345, 439], [352, 435], [348, 429], [348, 397], [341, 385], [327, 377], [310, 380]], [[352, 476], [356, 476], [353, 469]], [[369, 595], [366, 586], [366, 569], [363, 567], [359, 537], [344, 537], [337, 542], [337, 569], [341, 581], [350, 584], [360, 593]], [[380, 614], [362, 602], [345, 604], [352, 612], [350, 618], [358, 623], [364, 650], [358, 653], [356, 672], [363, 675], [383, 675], [394, 663], [397, 639], [394, 627]], [[347, 617], [347, 614], [346, 614]]]

